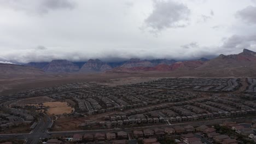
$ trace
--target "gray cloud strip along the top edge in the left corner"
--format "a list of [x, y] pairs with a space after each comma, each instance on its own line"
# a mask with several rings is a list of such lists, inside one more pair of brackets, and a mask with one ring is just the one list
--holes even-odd
[[50, 10], [74, 9], [76, 5], [74, 1], [71, 0], [2, 0], [0, 4], [2, 7], [25, 11], [28, 14], [45, 14]]

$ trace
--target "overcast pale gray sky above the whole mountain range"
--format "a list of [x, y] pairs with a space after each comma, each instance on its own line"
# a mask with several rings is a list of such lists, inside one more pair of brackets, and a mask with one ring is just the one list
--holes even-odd
[[0, 0], [0, 62], [256, 51], [256, 0]]

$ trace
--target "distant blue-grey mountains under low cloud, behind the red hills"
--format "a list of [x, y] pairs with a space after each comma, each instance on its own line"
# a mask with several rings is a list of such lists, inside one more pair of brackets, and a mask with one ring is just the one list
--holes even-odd
[[66, 59], [53, 60], [51, 62], [30, 62], [25, 64], [28, 67], [42, 69], [50, 73], [94, 73], [113, 70], [115, 68], [134, 68], [134, 67], [155, 67], [157, 65], [171, 65], [175, 60], [153, 59], [141, 60], [131, 58], [124, 62], [102, 62], [100, 59], [89, 59], [87, 62], [71, 62]]

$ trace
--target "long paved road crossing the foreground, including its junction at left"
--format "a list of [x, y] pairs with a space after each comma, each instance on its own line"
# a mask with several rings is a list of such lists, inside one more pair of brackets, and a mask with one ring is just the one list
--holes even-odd
[[[80, 131], [54, 131], [54, 132], [48, 132], [47, 127], [49, 125], [50, 118], [47, 115], [44, 115], [41, 117], [42, 119], [39, 121], [37, 127], [33, 130], [30, 134], [8, 134], [8, 135], [0, 135], [2, 136], [1, 139], [20, 139], [24, 140], [27, 139], [27, 144], [36, 144], [39, 141], [39, 138], [49, 138], [51, 135], [62, 135], [62, 136], [72, 136], [73, 134], [85, 134], [85, 133], [97, 133], [102, 132], [106, 133], [108, 132], [116, 132], [116, 131], [132, 131], [136, 129], [147, 129], [147, 128], [166, 128], [170, 127], [170, 125], [161, 124], [161, 125], [150, 125], [146, 127], [135, 127], [135, 128], [115, 128], [115, 129], [101, 129], [101, 130], [80, 130]], [[255, 117], [254, 117], [255, 118]], [[254, 119], [253, 118], [253, 119]], [[43, 119], [46, 119], [47, 121], [44, 121]], [[231, 118], [224, 118], [224, 119], [214, 119], [214, 120], [208, 120], [208, 121], [197, 121], [197, 122], [186, 122], [186, 123], [173, 123], [172, 125], [192, 125], [194, 127], [198, 127], [200, 125], [214, 125], [214, 124], [221, 124], [224, 121], [236, 121], [236, 122], [243, 122], [247, 121], [248, 119], [252, 118], [237, 118], [237, 119], [231, 119]], [[49, 121], [49, 122], [48, 122]], [[211, 144], [211, 143], [209, 143]]]

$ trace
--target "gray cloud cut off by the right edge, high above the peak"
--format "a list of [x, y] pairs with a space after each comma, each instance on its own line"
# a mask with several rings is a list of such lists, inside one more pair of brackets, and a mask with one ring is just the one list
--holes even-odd
[[256, 7], [248, 6], [245, 9], [237, 11], [236, 17], [251, 24], [256, 24]]

